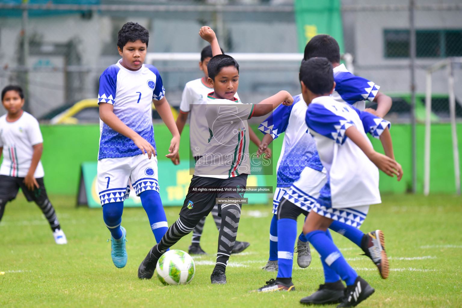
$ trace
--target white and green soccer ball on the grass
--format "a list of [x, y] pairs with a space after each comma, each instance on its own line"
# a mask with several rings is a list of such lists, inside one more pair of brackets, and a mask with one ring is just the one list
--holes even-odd
[[188, 284], [193, 280], [196, 267], [191, 256], [182, 250], [173, 249], [157, 261], [157, 277], [163, 284]]

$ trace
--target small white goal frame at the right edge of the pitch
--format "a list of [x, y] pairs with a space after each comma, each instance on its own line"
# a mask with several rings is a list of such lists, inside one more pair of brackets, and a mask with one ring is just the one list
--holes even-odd
[[444, 67], [447, 70], [448, 76], [448, 92], [449, 92], [449, 115], [451, 122], [452, 135], [452, 153], [454, 157], [454, 176], [456, 183], [456, 192], [461, 193], [461, 175], [460, 175], [460, 159], [457, 141], [456, 128], [456, 96], [454, 94], [454, 72], [453, 64], [462, 63], [460, 58], [447, 58], [439, 61], [426, 69], [426, 95], [425, 95], [425, 153], [424, 153], [424, 195], [430, 193], [430, 138], [431, 138], [431, 116], [432, 116], [432, 73]]

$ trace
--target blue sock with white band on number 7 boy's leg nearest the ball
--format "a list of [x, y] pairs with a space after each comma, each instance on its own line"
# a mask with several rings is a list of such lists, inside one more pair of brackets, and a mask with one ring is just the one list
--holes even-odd
[[156, 242], [160, 242], [162, 236], [164, 236], [167, 229], [169, 229], [160, 195], [155, 190], [145, 190], [140, 193], [140, 198], [141, 204], [149, 219], [149, 223], [151, 224], [152, 233], [154, 233]]

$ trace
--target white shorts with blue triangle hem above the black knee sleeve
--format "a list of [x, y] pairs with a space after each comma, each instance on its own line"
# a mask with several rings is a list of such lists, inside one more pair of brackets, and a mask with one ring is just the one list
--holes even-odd
[[311, 211], [312, 205], [317, 203], [316, 198], [319, 197], [319, 192], [326, 182], [325, 173], [305, 167], [298, 181], [293, 183], [284, 194], [284, 198], [305, 211]]

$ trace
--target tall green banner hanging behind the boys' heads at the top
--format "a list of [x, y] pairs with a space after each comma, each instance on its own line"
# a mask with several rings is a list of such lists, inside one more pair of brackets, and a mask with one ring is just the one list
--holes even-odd
[[340, 0], [295, 0], [298, 49], [303, 52], [311, 37], [328, 34], [340, 45], [343, 53], [343, 28]]

